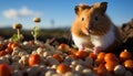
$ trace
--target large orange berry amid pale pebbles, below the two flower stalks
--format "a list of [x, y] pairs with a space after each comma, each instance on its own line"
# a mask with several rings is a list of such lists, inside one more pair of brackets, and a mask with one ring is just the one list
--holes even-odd
[[40, 64], [40, 62], [41, 62], [41, 57], [38, 54], [33, 54], [29, 57], [29, 65], [30, 66], [33, 66], [35, 64]]

